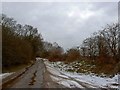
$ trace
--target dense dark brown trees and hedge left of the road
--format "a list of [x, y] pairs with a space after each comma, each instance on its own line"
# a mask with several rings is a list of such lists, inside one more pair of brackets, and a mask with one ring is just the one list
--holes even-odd
[[34, 61], [43, 48], [43, 39], [37, 28], [18, 24], [4, 14], [1, 17], [3, 69]]

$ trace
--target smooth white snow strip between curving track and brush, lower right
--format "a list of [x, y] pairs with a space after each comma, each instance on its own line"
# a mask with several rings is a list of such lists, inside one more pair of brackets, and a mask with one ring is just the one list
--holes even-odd
[[109, 87], [109, 88], [117, 88], [118, 86], [114, 86], [113, 84], [118, 84], [118, 75], [115, 75], [113, 78], [108, 77], [100, 77], [93, 74], [70, 74], [65, 73], [65, 75], [75, 78], [78, 81], [89, 83], [98, 87]]

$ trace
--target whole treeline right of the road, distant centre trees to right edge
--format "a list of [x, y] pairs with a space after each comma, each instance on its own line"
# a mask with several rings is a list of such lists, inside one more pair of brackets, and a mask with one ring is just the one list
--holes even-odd
[[44, 58], [53, 61], [75, 61], [87, 59], [97, 63], [119, 63], [120, 62], [120, 30], [119, 24], [107, 25], [103, 30], [93, 33], [86, 38], [79, 47], [68, 49], [57, 43], [44, 42]]

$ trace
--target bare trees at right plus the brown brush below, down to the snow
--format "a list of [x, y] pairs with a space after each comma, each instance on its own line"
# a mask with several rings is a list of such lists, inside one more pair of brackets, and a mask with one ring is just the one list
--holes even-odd
[[[87, 62], [95, 65], [94, 73], [120, 73], [120, 28], [115, 23], [93, 33], [85, 39], [80, 48], [80, 55]], [[89, 61], [88, 61], [89, 60]]]

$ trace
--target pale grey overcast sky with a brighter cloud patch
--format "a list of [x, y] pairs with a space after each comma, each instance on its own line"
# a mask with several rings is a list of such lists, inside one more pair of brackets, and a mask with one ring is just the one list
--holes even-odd
[[7, 2], [3, 13], [37, 27], [44, 40], [64, 49], [78, 46], [106, 24], [117, 22], [117, 2]]

